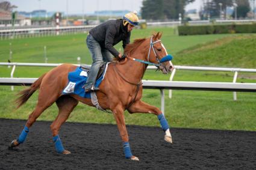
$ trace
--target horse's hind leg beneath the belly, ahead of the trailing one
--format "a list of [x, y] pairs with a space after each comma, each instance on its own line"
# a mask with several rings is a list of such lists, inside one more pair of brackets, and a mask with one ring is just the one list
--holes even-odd
[[70, 96], [61, 96], [56, 104], [58, 106], [58, 116], [51, 124], [52, 136], [57, 153], [70, 154], [70, 151], [64, 150], [58, 131], [61, 125], [67, 120], [73, 108], [78, 104], [78, 101]]

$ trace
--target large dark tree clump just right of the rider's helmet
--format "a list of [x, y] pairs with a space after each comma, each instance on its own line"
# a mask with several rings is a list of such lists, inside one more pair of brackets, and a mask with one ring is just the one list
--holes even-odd
[[144, 0], [142, 2], [143, 19], [178, 19], [184, 14], [184, 8], [195, 0]]

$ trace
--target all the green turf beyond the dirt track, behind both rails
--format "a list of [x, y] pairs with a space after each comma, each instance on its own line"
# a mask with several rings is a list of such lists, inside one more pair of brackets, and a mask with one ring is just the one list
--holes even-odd
[[[163, 44], [174, 56], [175, 65], [210, 65], [215, 67], [255, 68], [255, 34], [192, 35], [180, 37], [173, 34], [172, 28], [154, 28], [133, 32], [132, 39], [149, 37], [153, 31], [163, 32]], [[90, 64], [92, 61], [84, 43], [86, 34], [61, 35], [58, 37], [22, 38], [0, 41], [0, 62], [7, 62], [13, 51], [12, 62], [44, 62], [43, 47], [47, 47], [49, 63]], [[121, 44], [116, 48], [120, 49]], [[17, 67], [15, 77], [39, 77], [50, 68]], [[10, 77], [10, 68], [0, 66], [0, 77]], [[176, 72], [174, 80], [232, 82], [234, 73], [214, 71]], [[146, 71], [144, 79], [168, 80], [169, 75], [153, 70]], [[239, 73], [237, 82], [256, 82], [256, 74]], [[0, 86], [0, 117], [27, 119], [37, 102], [37, 93], [19, 110], [15, 110], [13, 99], [23, 87]], [[167, 99], [166, 118], [172, 127], [193, 127], [205, 129], [256, 130], [256, 94], [238, 93], [238, 101], [233, 101], [233, 93], [209, 91], [173, 91], [173, 98]], [[160, 107], [160, 93], [157, 90], [144, 90], [143, 100]], [[57, 106], [47, 109], [39, 120], [54, 120]], [[115, 123], [112, 115], [104, 114], [79, 104], [68, 121], [86, 123]], [[125, 113], [126, 124], [159, 126], [154, 115]]]

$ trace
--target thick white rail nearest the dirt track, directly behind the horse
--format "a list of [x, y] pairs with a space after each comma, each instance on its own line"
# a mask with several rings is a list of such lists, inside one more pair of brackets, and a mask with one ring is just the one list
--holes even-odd
[[[0, 85], [31, 85], [37, 78], [1, 78]], [[211, 90], [211, 91], [244, 91], [256, 92], [256, 83], [226, 82], [170, 82], [142, 80], [143, 88], [159, 89], [161, 93], [161, 111], [164, 114], [164, 89], [178, 90]]]

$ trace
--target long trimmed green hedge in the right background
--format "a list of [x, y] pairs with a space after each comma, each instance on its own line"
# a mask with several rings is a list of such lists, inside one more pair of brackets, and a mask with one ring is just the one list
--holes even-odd
[[179, 35], [233, 34], [256, 32], [256, 23], [243, 25], [178, 26]]

